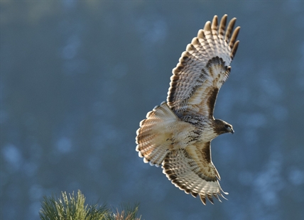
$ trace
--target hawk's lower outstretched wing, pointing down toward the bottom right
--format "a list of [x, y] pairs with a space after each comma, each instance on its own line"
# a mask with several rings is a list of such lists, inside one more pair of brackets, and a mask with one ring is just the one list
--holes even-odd
[[[213, 204], [213, 197], [224, 197], [219, 185], [219, 173], [211, 161], [210, 142], [199, 147], [189, 145], [185, 149], [171, 150], [163, 160], [163, 173], [169, 180], [187, 194], [200, 196], [203, 204], [206, 198]], [[219, 201], [221, 201], [219, 199]]]

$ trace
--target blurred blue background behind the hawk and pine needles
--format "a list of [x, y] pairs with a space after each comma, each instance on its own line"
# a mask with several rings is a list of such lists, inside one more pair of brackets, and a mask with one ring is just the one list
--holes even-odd
[[[206, 21], [239, 49], [212, 141], [228, 201], [204, 206], [136, 153], [136, 129]], [[1, 1], [1, 219], [43, 196], [140, 202], [142, 219], [304, 219], [303, 1]]]

